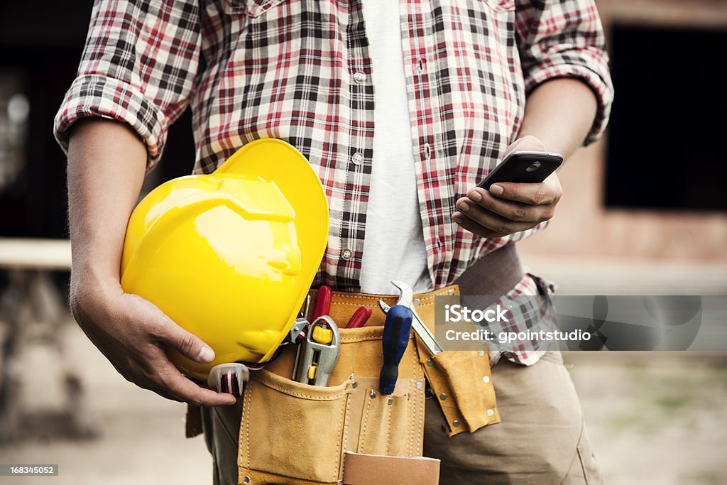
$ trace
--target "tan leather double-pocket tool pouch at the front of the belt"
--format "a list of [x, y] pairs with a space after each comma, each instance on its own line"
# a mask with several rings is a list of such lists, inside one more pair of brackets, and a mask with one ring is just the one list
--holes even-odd
[[[417, 345], [412, 337], [394, 393], [382, 396], [382, 334], [383, 326], [341, 328], [329, 387], [291, 380], [293, 346], [252, 374], [243, 396], [240, 484], [342, 483], [346, 452], [361, 454], [354, 462], [364, 464], [365, 455], [421, 456], [425, 386]], [[431, 470], [432, 461], [409, 463]]]

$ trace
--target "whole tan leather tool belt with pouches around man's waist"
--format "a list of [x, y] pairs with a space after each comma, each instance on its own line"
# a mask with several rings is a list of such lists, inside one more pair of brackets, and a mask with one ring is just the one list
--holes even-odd
[[[414, 306], [434, 331], [436, 296], [502, 295], [522, 277], [515, 246], [505, 246], [476, 262], [457, 284], [415, 294]], [[309, 313], [316, 294], [310, 291]], [[421, 457], [427, 382], [450, 436], [499, 422], [487, 351], [432, 356], [414, 332], [394, 393], [379, 393], [385, 322], [379, 299], [394, 305], [398, 296], [333, 292], [330, 316], [340, 324], [341, 345], [328, 386], [292, 380], [294, 345], [252, 372], [242, 397], [240, 484], [438, 483], [438, 460]], [[374, 310], [366, 325], [342, 328], [362, 305]], [[374, 470], [387, 481], [372, 482]]]

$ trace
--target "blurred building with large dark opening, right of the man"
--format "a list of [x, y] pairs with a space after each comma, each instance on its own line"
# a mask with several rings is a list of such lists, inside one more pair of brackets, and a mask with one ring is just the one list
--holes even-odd
[[[598, 0], [616, 100], [558, 172], [553, 223], [520, 244], [561, 291], [727, 292], [727, 1]], [[574, 262], [579, 275], [570, 274]], [[571, 286], [572, 285], [572, 286]]]

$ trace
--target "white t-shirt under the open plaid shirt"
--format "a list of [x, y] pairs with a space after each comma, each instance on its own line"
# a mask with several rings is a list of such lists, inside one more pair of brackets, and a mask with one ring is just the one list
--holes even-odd
[[398, 294], [398, 279], [415, 291], [432, 285], [427, 269], [406, 97], [399, 2], [364, 0], [373, 63], [374, 159], [366, 212], [361, 291]]

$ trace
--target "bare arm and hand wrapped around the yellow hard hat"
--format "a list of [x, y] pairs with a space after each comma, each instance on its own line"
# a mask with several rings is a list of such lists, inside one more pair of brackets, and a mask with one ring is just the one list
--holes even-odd
[[146, 162], [146, 146], [126, 124], [86, 119], [71, 129], [68, 215], [73, 316], [126, 380], [175, 401], [234, 404], [231, 394], [184, 377], [164, 348], [202, 363], [212, 361], [214, 352], [156, 305], [121, 289], [126, 223], [139, 197]]

